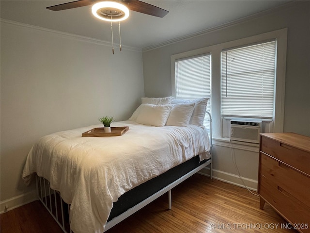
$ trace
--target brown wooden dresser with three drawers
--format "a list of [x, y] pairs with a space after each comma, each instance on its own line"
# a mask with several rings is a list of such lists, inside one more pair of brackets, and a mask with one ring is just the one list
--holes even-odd
[[310, 233], [310, 137], [261, 133], [258, 194], [292, 228]]

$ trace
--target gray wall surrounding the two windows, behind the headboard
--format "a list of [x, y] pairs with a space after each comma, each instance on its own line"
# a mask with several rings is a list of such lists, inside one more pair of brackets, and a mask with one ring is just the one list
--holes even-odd
[[[152, 50], [143, 50], [145, 96], [171, 95], [170, 57], [173, 54], [282, 28], [288, 28], [284, 132], [310, 136], [310, 1], [289, 3], [272, 12], [240, 20], [198, 36]], [[234, 145], [232, 153], [227, 140], [214, 140], [214, 145], [215, 178], [243, 186], [233, 166], [234, 156], [241, 177], [250, 188], [256, 189], [258, 147]], [[203, 172], [208, 173], [208, 170]]]

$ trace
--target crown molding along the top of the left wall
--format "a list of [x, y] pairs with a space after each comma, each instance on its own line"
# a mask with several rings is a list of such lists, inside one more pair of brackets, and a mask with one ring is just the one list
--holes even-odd
[[[73, 34], [73, 33], [64, 33], [64, 32], [60, 32], [60, 31], [57, 31], [57, 30], [52, 30], [52, 29], [48, 29], [48, 28], [34, 26], [34, 25], [31, 25], [31, 24], [16, 22], [16, 21], [4, 19], [4, 18], [0, 18], [0, 22], [1, 22], [1, 24], [2, 23], [11, 24], [11, 25], [15, 25], [15, 26], [19, 26], [19, 27], [24, 27], [24, 28], [30, 28], [30, 29], [33, 29], [33, 30], [43, 31], [43, 32], [47, 32], [47, 33], [58, 34], [58, 35], [61, 35], [62, 37], [70, 38], [70, 39], [75, 39], [75, 40], [79, 40], [79, 41], [82, 41], [82, 42], [87, 42], [87, 43], [93, 43], [93, 44], [96, 44], [96, 45], [112, 47], [112, 43], [111, 42], [104, 41], [104, 40], [99, 40], [99, 39], [94, 39], [94, 38], [87, 37], [87, 36], [77, 35], [77, 34]], [[131, 46], [125, 46], [125, 45], [122, 45], [122, 49], [141, 52], [140, 48], [135, 48], [135, 47], [131, 47]]]

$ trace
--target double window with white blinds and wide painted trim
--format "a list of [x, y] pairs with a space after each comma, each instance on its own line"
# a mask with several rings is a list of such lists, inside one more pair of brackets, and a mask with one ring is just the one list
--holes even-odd
[[[171, 55], [171, 95], [186, 99], [208, 95], [199, 94], [202, 93], [201, 90], [195, 89], [194, 81], [197, 80], [194, 78], [193, 70], [190, 71], [190, 68], [203, 70], [201, 68], [204, 66], [203, 63], [187, 64], [185, 70], [188, 73], [184, 77], [193, 75], [190, 78], [191, 81], [187, 83], [182, 83], [183, 73], [180, 68], [183, 62], [186, 64], [191, 59], [195, 61], [195, 58], [208, 55], [210, 62], [206, 63], [210, 66], [210, 87], [206, 89], [210, 91], [210, 97], [212, 90], [212, 100], [208, 102], [208, 110], [212, 109], [212, 134], [215, 139], [217, 138], [216, 143], [218, 145], [228, 143], [225, 137], [229, 137], [230, 134], [228, 119], [230, 117], [259, 117], [264, 119], [263, 132], [283, 132], [286, 47], [287, 29], [284, 28], [173, 54]], [[249, 54], [251, 59], [248, 57]], [[198, 69], [196, 66], [201, 67]], [[185, 89], [188, 85], [186, 91], [192, 95], [191, 97], [186, 96], [182, 84]], [[202, 84], [197, 85], [202, 86]], [[227, 125], [228, 130], [225, 131]]]

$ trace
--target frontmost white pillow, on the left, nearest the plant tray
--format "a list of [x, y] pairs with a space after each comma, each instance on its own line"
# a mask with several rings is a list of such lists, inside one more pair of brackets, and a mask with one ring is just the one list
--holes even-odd
[[164, 127], [171, 112], [172, 105], [141, 104], [141, 110], [136, 122], [143, 125]]

